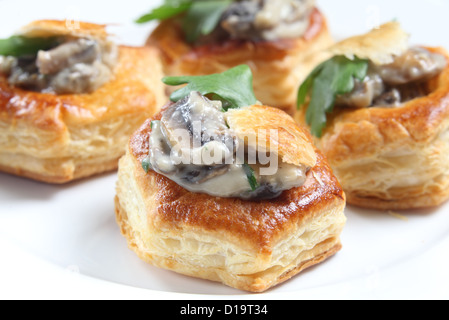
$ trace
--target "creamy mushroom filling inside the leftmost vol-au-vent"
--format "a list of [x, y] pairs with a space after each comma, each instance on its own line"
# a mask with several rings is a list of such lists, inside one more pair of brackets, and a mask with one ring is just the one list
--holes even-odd
[[26, 90], [55, 93], [91, 93], [113, 76], [118, 48], [108, 41], [67, 38], [34, 56], [2, 57], [0, 72], [8, 82]]

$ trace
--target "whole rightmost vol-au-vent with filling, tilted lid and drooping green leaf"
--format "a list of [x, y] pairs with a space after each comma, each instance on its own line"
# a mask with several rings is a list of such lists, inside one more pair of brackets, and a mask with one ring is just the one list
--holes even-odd
[[344, 40], [299, 90], [296, 119], [348, 203], [400, 210], [449, 198], [449, 55], [408, 40], [397, 22]]

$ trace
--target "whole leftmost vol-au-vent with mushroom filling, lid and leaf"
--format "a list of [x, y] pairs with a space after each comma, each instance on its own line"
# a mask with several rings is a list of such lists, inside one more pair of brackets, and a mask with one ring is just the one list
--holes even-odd
[[164, 103], [159, 54], [106, 26], [36, 21], [0, 40], [0, 171], [48, 183], [115, 170]]

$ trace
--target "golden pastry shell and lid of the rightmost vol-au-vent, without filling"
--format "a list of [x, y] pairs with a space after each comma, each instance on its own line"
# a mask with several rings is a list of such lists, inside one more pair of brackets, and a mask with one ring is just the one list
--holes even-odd
[[[384, 39], [384, 40], [383, 40]], [[388, 64], [407, 50], [407, 34], [389, 23], [331, 51]], [[441, 48], [426, 48], [440, 53]], [[348, 203], [381, 210], [438, 206], [449, 198], [449, 66], [425, 84], [428, 93], [398, 107], [339, 108], [317, 146]], [[305, 123], [305, 109], [296, 119]]]

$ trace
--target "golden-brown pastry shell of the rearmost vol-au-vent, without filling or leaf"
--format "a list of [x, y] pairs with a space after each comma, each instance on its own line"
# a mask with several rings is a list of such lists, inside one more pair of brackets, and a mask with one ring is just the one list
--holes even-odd
[[264, 104], [294, 112], [296, 94], [311, 68], [322, 61], [313, 55], [328, 48], [333, 40], [326, 18], [314, 9], [311, 23], [303, 37], [276, 41], [226, 40], [194, 47], [174, 20], [160, 23], [147, 44], [162, 53], [168, 76], [221, 73], [240, 64], [251, 67], [256, 97]]

